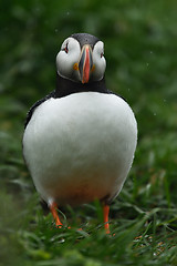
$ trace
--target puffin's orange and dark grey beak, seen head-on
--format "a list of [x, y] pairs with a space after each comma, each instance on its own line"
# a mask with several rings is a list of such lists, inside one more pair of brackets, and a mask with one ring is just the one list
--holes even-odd
[[82, 48], [81, 58], [79, 62], [79, 71], [82, 83], [87, 83], [93, 66], [92, 49], [88, 44]]

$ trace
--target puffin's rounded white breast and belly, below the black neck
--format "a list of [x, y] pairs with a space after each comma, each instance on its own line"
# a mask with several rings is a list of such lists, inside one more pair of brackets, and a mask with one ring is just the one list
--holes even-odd
[[23, 154], [43, 200], [79, 204], [118, 194], [136, 142], [136, 120], [123, 99], [81, 92], [37, 108]]

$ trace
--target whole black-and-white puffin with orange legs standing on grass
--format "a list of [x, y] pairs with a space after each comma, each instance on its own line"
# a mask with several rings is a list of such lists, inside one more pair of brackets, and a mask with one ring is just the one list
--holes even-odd
[[23, 157], [56, 227], [58, 208], [98, 200], [108, 213], [132, 167], [137, 122], [105, 84], [104, 43], [88, 33], [66, 38], [56, 55], [56, 86], [28, 112]]

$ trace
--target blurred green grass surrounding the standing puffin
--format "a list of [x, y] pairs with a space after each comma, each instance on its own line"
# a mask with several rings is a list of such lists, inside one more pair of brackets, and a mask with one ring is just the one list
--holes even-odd
[[[177, 2], [0, 6], [0, 266], [177, 265]], [[56, 229], [22, 158], [25, 113], [53, 90], [55, 54], [73, 32], [105, 42], [107, 86], [126, 98], [138, 122], [134, 165], [111, 206], [112, 237], [98, 203], [64, 207]]]

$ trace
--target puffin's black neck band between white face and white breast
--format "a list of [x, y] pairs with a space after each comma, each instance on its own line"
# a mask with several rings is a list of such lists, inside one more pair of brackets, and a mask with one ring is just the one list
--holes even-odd
[[94, 81], [94, 82], [82, 84], [80, 82], [74, 82], [74, 81], [64, 79], [56, 73], [55, 98], [66, 96], [75, 92], [87, 92], [87, 91], [110, 93], [108, 90], [106, 89], [104, 78], [101, 81]]

